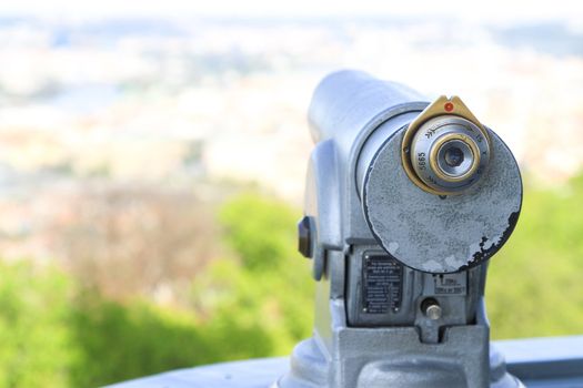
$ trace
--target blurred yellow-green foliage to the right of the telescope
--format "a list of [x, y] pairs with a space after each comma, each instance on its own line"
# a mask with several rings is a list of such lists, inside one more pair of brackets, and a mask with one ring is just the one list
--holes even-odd
[[490, 264], [493, 338], [583, 334], [583, 174], [529, 190], [519, 224]]

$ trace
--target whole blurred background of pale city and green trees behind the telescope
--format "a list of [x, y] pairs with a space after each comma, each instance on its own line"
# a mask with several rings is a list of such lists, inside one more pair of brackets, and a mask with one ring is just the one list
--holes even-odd
[[305, 114], [344, 68], [461, 95], [507, 142], [525, 205], [490, 267], [492, 336], [581, 334], [583, 12], [456, 4], [0, 4], [0, 386], [309, 336]]

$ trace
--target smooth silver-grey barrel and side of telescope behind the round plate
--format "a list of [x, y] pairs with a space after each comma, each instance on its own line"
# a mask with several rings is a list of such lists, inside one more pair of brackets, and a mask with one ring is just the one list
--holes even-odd
[[315, 89], [309, 123], [316, 145], [309, 161], [304, 204], [305, 215], [314, 216], [316, 225], [315, 279], [322, 276], [328, 253], [343, 252], [346, 239], [374, 243], [362, 214], [356, 166], [349, 161], [358, 159], [380, 124], [389, 119], [406, 123], [428, 106], [425, 100], [402, 84], [359, 71], [332, 73]]

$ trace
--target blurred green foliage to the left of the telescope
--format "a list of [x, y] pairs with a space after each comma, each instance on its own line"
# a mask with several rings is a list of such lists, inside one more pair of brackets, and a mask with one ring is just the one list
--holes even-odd
[[257, 194], [225, 203], [219, 219], [231, 252], [201, 269], [190, 308], [113, 300], [71, 273], [0, 262], [0, 387], [94, 387], [288, 354], [313, 321], [299, 215]]

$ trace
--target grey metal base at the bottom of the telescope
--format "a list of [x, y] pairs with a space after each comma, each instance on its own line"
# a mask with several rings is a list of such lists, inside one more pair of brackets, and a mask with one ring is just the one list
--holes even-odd
[[342, 343], [351, 347], [353, 356], [349, 358], [325, 357], [319, 340], [312, 337], [298, 344], [289, 372], [272, 388], [524, 387], [506, 371], [504, 357], [495, 347], [490, 348], [489, 372], [480, 370], [487, 351], [472, 348], [476, 344], [471, 343], [487, 336], [485, 331], [480, 334], [482, 327], [452, 329], [455, 333], [449, 334], [446, 343], [429, 345], [419, 341], [413, 328], [344, 328], [339, 347]]

